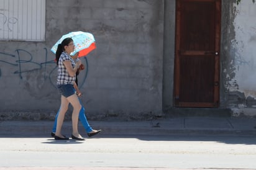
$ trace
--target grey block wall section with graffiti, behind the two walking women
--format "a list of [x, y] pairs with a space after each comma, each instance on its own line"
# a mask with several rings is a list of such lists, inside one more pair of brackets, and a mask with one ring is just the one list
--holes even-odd
[[163, 1], [47, 0], [46, 9], [45, 42], [0, 42], [2, 114], [55, 114], [60, 94], [50, 48], [76, 30], [91, 32], [97, 45], [79, 76], [88, 117], [162, 112]]

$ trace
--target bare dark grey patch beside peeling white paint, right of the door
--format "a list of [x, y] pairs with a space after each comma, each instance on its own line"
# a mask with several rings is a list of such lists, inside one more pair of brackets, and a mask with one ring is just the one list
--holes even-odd
[[[221, 107], [225, 108], [255, 108], [254, 97], [246, 97], [239, 91], [239, 84], [235, 79], [235, 71], [239, 65], [249, 64], [244, 61], [238, 49], [234, 48], [239, 42], [235, 40], [234, 19], [239, 10], [234, 1], [222, 1], [222, 39], [221, 39]], [[254, 41], [252, 37], [250, 40]]]

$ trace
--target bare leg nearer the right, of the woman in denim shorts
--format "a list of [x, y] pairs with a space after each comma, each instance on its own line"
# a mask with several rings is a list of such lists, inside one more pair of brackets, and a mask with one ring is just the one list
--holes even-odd
[[69, 96], [66, 99], [68, 99], [70, 104], [73, 106], [73, 112], [72, 112], [73, 133], [72, 134], [78, 138], [81, 138], [81, 135], [78, 133], [78, 116], [81, 110], [81, 104], [76, 94], [73, 94], [72, 96]]

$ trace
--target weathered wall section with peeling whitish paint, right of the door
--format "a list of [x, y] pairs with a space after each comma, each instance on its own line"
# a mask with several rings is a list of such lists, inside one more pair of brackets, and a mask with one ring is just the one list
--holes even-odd
[[222, 11], [222, 107], [255, 116], [256, 4], [223, 1]]

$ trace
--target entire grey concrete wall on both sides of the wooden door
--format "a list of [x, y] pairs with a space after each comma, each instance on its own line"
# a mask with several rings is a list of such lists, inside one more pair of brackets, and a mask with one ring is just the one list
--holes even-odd
[[[46, 9], [45, 42], [0, 42], [0, 119], [54, 119], [60, 94], [50, 48], [76, 30], [97, 44], [79, 76], [89, 119], [173, 109], [175, 1], [47, 0]], [[233, 115], [256, 115], [255, 15], [250, 1], [222, 0], [220, 108]]]

